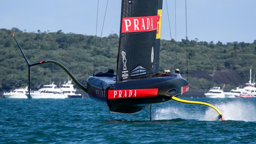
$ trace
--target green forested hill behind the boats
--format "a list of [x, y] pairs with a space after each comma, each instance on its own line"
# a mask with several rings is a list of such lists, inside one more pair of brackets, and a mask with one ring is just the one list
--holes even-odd
[[[28, 66], [24, 60], [12, 33], [15, 31], [20, 46], [30, 63], [42, 60], [56, 60], [65, 65], [74, 76], [86, 84], [88, 76], [93, 74], [94, 55], [100, 37], [96, 38], [96, 54], [94, 52], [95, 36], [68, 33], [61, 30], [57, 32], [22, 32], [18, 28], [0, 29], [0, 91], [6, 91], [28, 84]], [[112, 68], [116, 72], [116, 59], [118, 51], [117, 34], [102, 37], [99, 56], [95, 72], [106, 72]], [[174, 71], [172, 45], [175, 53], [177, 46], [177, 66], [181, 73], [186, 73], [186, 40], [161, 40], [160, 69]], [[188, 71], [191, 89], [208, 89], [216, 85], [227, 84], [228, 88], [235, 88], [248, 81], [249, 69], [252, 75], [256, 68], [256, 40], [252, 43], [227, 43], [204, 42], [188, 40]], [[221, 71], [220, 71], [221, 70]], [[183, 75], [185, 78], [186, 74]], [[225, 79], [227, 77], [227, 79]], [[217, 78], [217, 79], [216, 79]], [[67, 81], [68, 75], [57, 65], [45, 63], [31, 67], [32, 89], [49, 84], [50, 80], [56, 85]], [[237, 80], [236, 80], [237, 79]], [[233, 82], [231, 82], [233, 80]]]

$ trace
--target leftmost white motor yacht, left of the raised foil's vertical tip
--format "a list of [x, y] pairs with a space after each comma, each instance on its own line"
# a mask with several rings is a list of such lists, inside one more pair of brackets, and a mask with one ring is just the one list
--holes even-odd
[[13, 92], [4, 93], [4, 98], [7, 99], [27, 99], [26, 92], [28, 92], [28, 87], [15, 89]]

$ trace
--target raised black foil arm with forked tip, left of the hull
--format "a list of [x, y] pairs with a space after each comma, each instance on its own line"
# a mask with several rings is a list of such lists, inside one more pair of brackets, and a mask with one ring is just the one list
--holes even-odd
[[40, 62], [36, 62], [36, 63], [33, 63], [33, 64], [30, 64], [26, 55], [24, 54], [24, 52], [22, 51], [21, 47], [20, 47], [20, 44], [18, 43], [17, 39], [15, 38], [14, 36], [14, 33], [12, 34], [12, 36], [14, 37], [17, 45], [19, 46], [20, 48], [20, 51], [24, 57], [24, 59], [26, 60], [27, 64], [28, 64], [28, 98], [30, 100], [30, 67], [32, 66], [35, 66], [35, 65], [39, 65], [39, 64], [43, 64], [43, 63], [46, 63], [46, 62], [51, 62], [51, 63], [54, 63], [54, 64], [57, 64], [58, 66], [60, 66], [62, 69], [65, 70], [65, 72], [68, 74], [68, 76], [70, 76], [70, 78], [82, 89], [84, 90], [85, 92], [87, 92], [87, 88], [82, 85], [77, 79], [76, 77], [68, 70], [68, 68], [66, 68], [64, 65], [62, 65], [60, 62], [58, 61], [54, 61], [54, 60], [44, 60], [44, 61], [40, 61]]

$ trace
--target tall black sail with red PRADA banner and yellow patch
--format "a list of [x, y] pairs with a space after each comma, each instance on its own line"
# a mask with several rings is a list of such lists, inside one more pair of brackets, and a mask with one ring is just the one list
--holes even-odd
[[117, 80], [158, 72], [163, 0], [123, 0]]

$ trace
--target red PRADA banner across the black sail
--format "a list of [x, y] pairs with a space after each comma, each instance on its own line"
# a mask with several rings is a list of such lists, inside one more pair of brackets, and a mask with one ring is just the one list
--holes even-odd
[[122, 33], [153, 31], [157, 28], [157, 15], [129, 17], [122, 20]]

